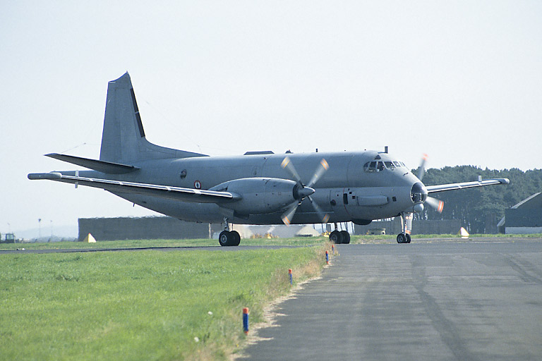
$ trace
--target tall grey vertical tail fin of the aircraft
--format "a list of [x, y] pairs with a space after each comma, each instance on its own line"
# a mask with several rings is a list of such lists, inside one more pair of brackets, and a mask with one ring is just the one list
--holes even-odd
[[145, 138], [130, 75], [107, 85], [100, 161], [131, 164], [151, 159], [203, 157], [205, 154], [160, 147]]

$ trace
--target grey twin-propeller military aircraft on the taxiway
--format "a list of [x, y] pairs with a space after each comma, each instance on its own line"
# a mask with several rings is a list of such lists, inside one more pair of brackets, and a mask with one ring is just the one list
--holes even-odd
[[337, 223], [369, 224], [400, 216], [398, 243], [410, 243], [414, 212], [424, 204], [442, 212], [428, 193], [510, 183], [505, 178], [423, 185], [422, 163], [415, 176], [385, 152], [273, 154], [247, 152], [237, 157], [159, 147], [147, 141], [130, 75], [107, 87], [100, 159], [66, 154], [47, 157], [92, 169], [30, 173], [47, 179], [102, 188], [155, 212], [185, 221], [223, 223], [223, 246], [239, 245], [229, 224], [334, 223], [330, 240], [349, 243]]

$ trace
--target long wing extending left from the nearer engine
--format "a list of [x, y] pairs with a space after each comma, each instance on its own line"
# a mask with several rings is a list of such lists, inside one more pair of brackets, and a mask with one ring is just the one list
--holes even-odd
[[78, 176], [65, 176], [59, 172], [30, 173], [28, 179], [47, 179], [75, 185], [87, 185], [93, 188], [102, 188], [110, 192], [132, 193], [150, 195], [152, 197], [180, 200], [183, 202], [220, 203], [240, 200], [241, 196], [233, 192], [216, 192], [214, 190], [200, 190], [191, 188], [171, 187], [169, 185], [133, 183], [124, 181], [110, 181], [109, 179], [86, 178]]

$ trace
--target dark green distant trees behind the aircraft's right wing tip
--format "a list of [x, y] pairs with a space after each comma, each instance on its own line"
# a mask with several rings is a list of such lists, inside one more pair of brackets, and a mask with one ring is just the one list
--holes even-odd
[[[417, 171], [413, 171], [417, 174]], [[426, 206], [416, 219], [459, 219], [471, 233], [486, 233], [488, 224], [494, 224], [505, 215], [505, 209], [512, 207], [526, 197], [542, 192], [542, 169], [502, 171], [480, 169], [475, 166], [447, 166], [442, 169], [427, 169], [423, 177], [426, 185], [476, 181], [482, 178], [509, 178], [510, 185], [490, 185], [483, 188], [450, 190], [432, 193], [430, 196], [445, 202], [444, 211], [439, 214]]]

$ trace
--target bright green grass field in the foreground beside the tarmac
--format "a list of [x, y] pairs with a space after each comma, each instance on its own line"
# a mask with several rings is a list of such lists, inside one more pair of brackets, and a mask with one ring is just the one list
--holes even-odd
[[245, 338], [242, 307], [262, 321], [288, 269], [318, 273], [322, 252], [1, 255], [0, 359], [225, 360]]

